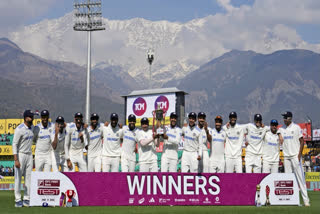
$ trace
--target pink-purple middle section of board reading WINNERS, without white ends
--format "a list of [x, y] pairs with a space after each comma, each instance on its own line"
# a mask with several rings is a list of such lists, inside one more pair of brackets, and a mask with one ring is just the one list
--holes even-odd
[[80, 206], [254, 205], [268, 174], [63, 173]]

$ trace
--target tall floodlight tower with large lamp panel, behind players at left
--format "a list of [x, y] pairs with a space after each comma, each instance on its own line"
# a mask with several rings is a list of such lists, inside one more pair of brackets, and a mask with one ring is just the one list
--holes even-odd
[[85, 121], [90, 118], [90, 76], [91, 76], [91, 31], [104, 30], [102, 24], [101, 0], [74, 1], [74, 26], [75, 31], [88, 32], [88, 64], [87, 64], [87, 88], [86, 88], [86, 113]]

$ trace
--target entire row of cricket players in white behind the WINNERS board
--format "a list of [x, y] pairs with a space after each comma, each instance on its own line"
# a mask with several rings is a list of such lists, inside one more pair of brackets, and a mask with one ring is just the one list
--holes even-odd
[[303, 136], [301, 128], [292, 122], [291, 112], [282, 114], [285, 127], [279, 129], [277, 120], [271, 120], [270, 126], [264, 125], [261, 114], [254, 115], [253, 123], [237, 124], [236, 112], [229, 114], [225, 125], [222, 117], [217, 116], [213, 128], [208, 127], [204, 112], [190, 112], [188, 124], [180, 128], [177, 126], [179, 115], [171, 112], [170, 124], [160, 133], [150, 128], [151, 122], [146, 117], [141, 119], [141, 129], [138, 129], [134, 114], [128, 116], [127, 126], [118, 123], [116, 113], [105, 123], [100, 123], [99, 115], [93, 113], [90, 124], [84, 124], [80, 112], [74, 115], [71, 123], [58, 116], [54, 124], [49, 122], [49, 116], [49, 111], [43, 110], [41, 123], [33, 126], [34, 113], [26, 110], [24, 123], [15, 130], [12, 150], [16, 203], [21, 202], [22, 175], [26, 185], [24, 201], [30, 200], [28, 185], [33, 168], [33, 143], [36, 144], [36, 171], [75, 172], [77, 166], [79, 172], [119, 172], [121, 166], [121, 172], [134, 172], [138, 153], [139, 172], [158, 172], [156, 148], [161, 141], [161, 172], [177, 172], [178, 145], [182, 140], [182, 173], [242, 173], [244, 142], [246, 173], [277, 173], [282, 144], [285, 172], [295, 173], [303, 200], [309, 203], [300, 162]]

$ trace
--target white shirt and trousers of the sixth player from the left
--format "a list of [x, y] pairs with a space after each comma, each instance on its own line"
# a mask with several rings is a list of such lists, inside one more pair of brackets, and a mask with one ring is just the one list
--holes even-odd
[[103, 127], [102, 171], [119, 172], [123, 130], [111, 124]]

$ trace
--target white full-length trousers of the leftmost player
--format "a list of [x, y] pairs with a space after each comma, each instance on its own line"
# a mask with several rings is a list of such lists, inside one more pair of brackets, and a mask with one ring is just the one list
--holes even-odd
[[20, 162], [20, 168], [14, 167], [14, 196], [15, 201], [21, 201], [21, 179], [24, 176], [24, 196], [23, 200], [30, 200], [30, 184], [31, 184], [31, 172], [33, 168], [32, 154], [18, 154], [18, 160]]

